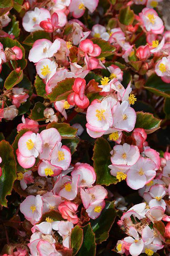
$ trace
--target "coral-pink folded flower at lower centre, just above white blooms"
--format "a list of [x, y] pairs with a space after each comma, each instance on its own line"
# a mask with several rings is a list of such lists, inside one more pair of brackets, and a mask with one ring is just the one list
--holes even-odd
[[72, 202], [64, 201], [58, 206], [58, 210], [64, 219], [72, 221], [73, 224], [78, 223], [78, 217], [76, 215], [78, 205]]

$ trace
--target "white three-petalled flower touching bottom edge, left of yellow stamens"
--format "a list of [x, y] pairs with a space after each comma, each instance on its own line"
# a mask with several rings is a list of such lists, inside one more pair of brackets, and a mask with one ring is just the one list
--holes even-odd
[[139, 238], [139, 234], [136, 231], [136, 228], [130, 227], [129, 234], [132, 236], [128, 236], [124, 238], [125, 242], [130, 243], [129, 252], [132, 256], [138, 256], [141, 254], [144, 246], [144, 242], [142, 238]]

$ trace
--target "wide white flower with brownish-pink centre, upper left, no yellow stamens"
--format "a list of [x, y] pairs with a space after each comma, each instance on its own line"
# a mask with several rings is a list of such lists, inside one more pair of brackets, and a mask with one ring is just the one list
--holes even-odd
[[29, 51], [29, 61], [37, 63], [39, 60], [50, 58], [60, 49], [60, 41], [55, 39], [52, 43], [48, 39], [38, 39]]

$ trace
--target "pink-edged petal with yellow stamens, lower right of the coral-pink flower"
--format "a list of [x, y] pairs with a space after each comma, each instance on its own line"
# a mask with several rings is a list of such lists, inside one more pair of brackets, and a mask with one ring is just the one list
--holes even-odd
[[101, 211], [105, 208], [104, 200], [96, 200], [94, 203], [91, 203], [89, 207], [86, 209], [86, 212], [90, 219], [96, 219], [100, 216]]

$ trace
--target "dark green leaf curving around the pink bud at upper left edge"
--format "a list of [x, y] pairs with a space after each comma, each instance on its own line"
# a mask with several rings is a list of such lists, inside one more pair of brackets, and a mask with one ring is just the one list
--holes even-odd
[[18, 67], [21, 67], [21, 69], [25, 69], [25, 67], [27, 66], [27, 60], [25, 59], [24, 47], [17, 40], [11, 39], [9, 37], [0, 37], [0, 43], [3, 44], [4, 48], [12, 48], [13, 46], [18, 46], [21, 48], [23, 53], [22, 59], [16, 60], [15, 62], [18, 64]]

